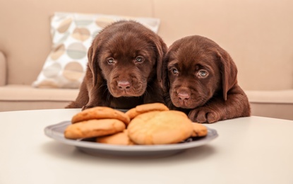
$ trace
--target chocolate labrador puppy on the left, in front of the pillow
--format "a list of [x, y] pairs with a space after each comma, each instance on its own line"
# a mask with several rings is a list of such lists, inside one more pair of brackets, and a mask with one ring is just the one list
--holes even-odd
[[166, 52], [165, 42], [140, 23], [108, 25], [92, 41], [80, 91], [66, 108], [129, 109], [143, 103], [163, 103], [159, 80]]

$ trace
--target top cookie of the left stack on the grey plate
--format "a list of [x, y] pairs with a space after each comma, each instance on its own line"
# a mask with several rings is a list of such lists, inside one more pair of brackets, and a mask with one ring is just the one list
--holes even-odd
[[95, 107], [85, 109], [80, 113], [74, 115], [71, 119], [71, 122], [76, 123], [95, 119], [117, 119], [121, 120], [126, 125], [128, 125], [128, 123], [130, 122], [128, 115], [119, 110], [114, 110], [113, 108], [108, 107]]

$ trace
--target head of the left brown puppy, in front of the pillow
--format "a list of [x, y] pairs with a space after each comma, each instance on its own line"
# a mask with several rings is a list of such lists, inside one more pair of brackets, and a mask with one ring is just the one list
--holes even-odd
[[142, 96], [148, 82], [161, 79], [166, 51], [162, 39], [140, 23], [119, 21], [108, 25], [89, 50], [93, 85], [104, 79], [116, 98]]

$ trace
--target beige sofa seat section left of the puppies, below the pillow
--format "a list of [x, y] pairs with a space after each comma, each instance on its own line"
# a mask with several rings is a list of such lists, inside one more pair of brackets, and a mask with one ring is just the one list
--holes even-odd
[[0, 112], [64, 108], [78, 96], [78, 89], [0, 86]]

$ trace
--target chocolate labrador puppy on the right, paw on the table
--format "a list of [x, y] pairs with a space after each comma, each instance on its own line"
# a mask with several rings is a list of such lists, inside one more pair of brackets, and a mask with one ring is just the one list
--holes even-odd
[[249, 100], [237, 84], [230, 55], [198, 35], [174, 42], [163, 61], [165, 103], [194, 122], [211, 123], [249, 116]]

